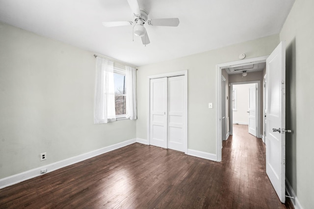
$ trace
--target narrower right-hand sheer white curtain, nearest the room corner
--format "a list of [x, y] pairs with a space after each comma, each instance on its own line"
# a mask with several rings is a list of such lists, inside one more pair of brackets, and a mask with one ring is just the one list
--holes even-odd
[[127, 115], [126, 118], [136, 120], [136, 69], [126, 66]]

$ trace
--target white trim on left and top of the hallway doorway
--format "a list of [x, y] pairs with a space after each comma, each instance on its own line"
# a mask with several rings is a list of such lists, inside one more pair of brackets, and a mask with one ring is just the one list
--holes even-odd
[[[261, 62], [266, 62], [266, 58], [268, 56], [260, 56], [256, 58], [251, 58], [251, 59], [243, 59], [243, 60], [238, 60], [234, 62], [227, 62], [227, 63], [221, 63], [216, 65], [216, 161], [220, 162], [221, 161], [221, 69], [227, 68], [227, 67], [237, 67], [245, 64], [253, 64], [253, 63], [261, 63]], [[231, 121], [231, 120], [230, 120]]]

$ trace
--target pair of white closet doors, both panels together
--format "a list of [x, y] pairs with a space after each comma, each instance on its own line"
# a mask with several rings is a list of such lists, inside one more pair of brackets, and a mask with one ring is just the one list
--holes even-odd
[[184, 76], [151, 79], [150, 143], [184, 152]]

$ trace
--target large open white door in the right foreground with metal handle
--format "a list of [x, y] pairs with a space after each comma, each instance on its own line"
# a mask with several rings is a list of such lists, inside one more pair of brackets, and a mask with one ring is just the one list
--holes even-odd
[[[266, 173], [285, 203], [286, 47], [281, 42], [266, 59]], [[278, 131], [273, 131], [278, 129]], [[279, 132], [280, 131], [280, 132]]]

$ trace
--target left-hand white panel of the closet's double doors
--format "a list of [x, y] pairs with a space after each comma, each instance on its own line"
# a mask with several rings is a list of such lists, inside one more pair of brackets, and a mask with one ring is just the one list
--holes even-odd
[[167, 148], [167, 78], [150, 82], [150, 143]]

